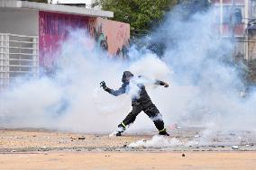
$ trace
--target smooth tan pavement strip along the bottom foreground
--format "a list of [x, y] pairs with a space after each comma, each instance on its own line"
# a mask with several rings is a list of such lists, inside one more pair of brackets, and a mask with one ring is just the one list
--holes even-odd
[[43, 152], [0, 154], [0, 169], [256, 170], [256, 152]]

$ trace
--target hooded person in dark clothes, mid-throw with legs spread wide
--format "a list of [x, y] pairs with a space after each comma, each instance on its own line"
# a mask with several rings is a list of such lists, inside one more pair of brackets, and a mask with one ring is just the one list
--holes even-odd
[[[131, 79], [133, 78], [133, 74], [130, 71], [123, 72], [122, 82], [123, 85], [118, 90], [113, 90], [105, 85], [105, 82], [101, 82], [100, 85], [103, 89], [109, 94], [113, 94], [114, 96], [118, 96], [121, 94], [129, 93], [131, 87]], [[142, 78], [139, 76], [138, 79]], [[142, 82], [142, 81], [138, 81]], [[169, 85], [163, 81], [156, 80], [154, 85], [163, 85], [164, 87], [168, 87]], [[169, 136], [169, 133], [164, 128], [164, 122], [162, 121], [162, 116], [158, 110], [158, 108], [151, 102], [151, 97], [147, 93], [145, 86], [143, 84], [137, 84], [138, 94], [134, 95], [132, 98], [132, 106], [133, 110], [130, 112], [126, 118], [118, 125], [118, 129], [115, 132], [116, 136], [121, 136], [123, 131], [126, 130], [127, 126], [135, 121], [137, 115], [140, 112], [145, 112], [150, 118], [151, 121], [154, 122], [156, 128], [159, 130], [159, 135]]]

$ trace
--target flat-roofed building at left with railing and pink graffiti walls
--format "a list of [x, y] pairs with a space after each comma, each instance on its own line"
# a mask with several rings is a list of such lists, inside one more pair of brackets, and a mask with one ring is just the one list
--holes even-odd
[[130, 25], [106, 19], [113, 16], [83, 7], [0, 0], [0, 90], [19, 78], [39, 76], [40, 69], [51, 72], [70, 29], [88, 31], [96, 46], [123, 57]]

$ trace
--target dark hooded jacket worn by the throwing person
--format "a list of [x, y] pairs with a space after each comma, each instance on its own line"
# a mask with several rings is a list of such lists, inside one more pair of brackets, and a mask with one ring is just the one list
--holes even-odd
[[[130, 71], [124, 71], [123, 77], [122, 77], [123, 85], [118, 90], [113, 90], [111, 88], [106, 87], [105, 91], [108, 92], [109, 94], [113, 94], [114, 96], [125, 94], [129, 90], [128, 88], [129, 88], [130, 82], [129, 82], [129, 80], [127, 81], [128, 76], [133, 76], [133, 74]], [[139, 76], [139, 77], [141, 77], [141, 76]], [[160, 80], [156, 80], [155, 85], [164, 85], [164, 82], [162, 82]], [[147, 91], [145, 89], [145, 85], [140, 84], [138, 86], [140, 87], [139, 96], [133, 97], [132, 105], [135, 106], [135, 105], [142, 104], [142, 106], [144, 106], [144, 107], [150, 106], [152, 104], [151, 97], [147, 93]]]

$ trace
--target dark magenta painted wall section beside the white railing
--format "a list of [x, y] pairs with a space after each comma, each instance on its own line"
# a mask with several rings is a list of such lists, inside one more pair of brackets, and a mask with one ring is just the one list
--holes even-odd
[[54, 67], [61, 41], [70, 29], [87, 28], [88, 17], [63, 13], [39, 13], [40, 66]]

